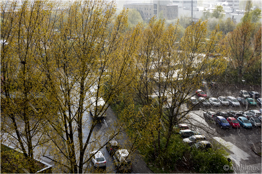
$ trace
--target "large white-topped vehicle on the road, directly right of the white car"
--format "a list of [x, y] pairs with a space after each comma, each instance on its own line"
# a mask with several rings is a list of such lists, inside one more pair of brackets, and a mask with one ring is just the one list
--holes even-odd
[[131, 157], [126, 149], [119, 149], [114, 154], [114, 165], [118, 171], [131, 171]]

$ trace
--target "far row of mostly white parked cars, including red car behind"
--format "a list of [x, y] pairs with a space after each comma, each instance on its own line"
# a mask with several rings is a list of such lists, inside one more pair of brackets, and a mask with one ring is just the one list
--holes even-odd
[[[239, 95], [240, 97], [235, 98], [232, 96], [228, 97], [210, 97], [207, 98], [206, 93], [203, 90], [197, 90], [196, 94], [199, 96], [199, 99], [195, 97], [190, 98], [190, 104], [196, 106], [198, 104], [201, 104], [202, 106], [240, 106], [242, 105], [248, 105], [248, 106], [262, 106], [262, 98], [259, 98], [259, 93], [255, 91], [248, 92], [248, 96], [246, 95], [247, 92], [245, 90], [240, 90]], [[256, 99], [256, 101], [254, 100]]]

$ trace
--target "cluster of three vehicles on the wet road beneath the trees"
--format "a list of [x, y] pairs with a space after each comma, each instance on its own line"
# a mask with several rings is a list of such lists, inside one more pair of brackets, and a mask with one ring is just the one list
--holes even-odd
[[[109, 154], [113, 155], [114, 165], [118, 171], [131, 171], [132, 163], [128, 150], [120, 149], [115, 139], [109, 141], [106, 147], [109, 151]], [[90, 155], [93, 155], [92, 162], [95, 168], [106, 168], [107, 162], [101, 151], [93, 151]]]

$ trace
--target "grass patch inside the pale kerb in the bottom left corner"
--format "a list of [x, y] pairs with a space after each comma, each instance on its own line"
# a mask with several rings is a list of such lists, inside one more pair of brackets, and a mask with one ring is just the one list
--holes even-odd
[[[29, 162], [22, 153], [19, 153], [1, 144], [1, 173], [30, 173]], [[34, 160], [35, 165], [31, 171], [39, 171], [46, 165]], [[34, 173], [35, 173], [34, 172]]]

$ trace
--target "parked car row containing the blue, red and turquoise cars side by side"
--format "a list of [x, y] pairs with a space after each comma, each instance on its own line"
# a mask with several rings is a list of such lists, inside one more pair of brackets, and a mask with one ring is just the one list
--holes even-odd
[[252, 128], [261, 126], [261, 109], [248, 111], [204, 112], [204, 117], [215, 120], [221, 128]]

